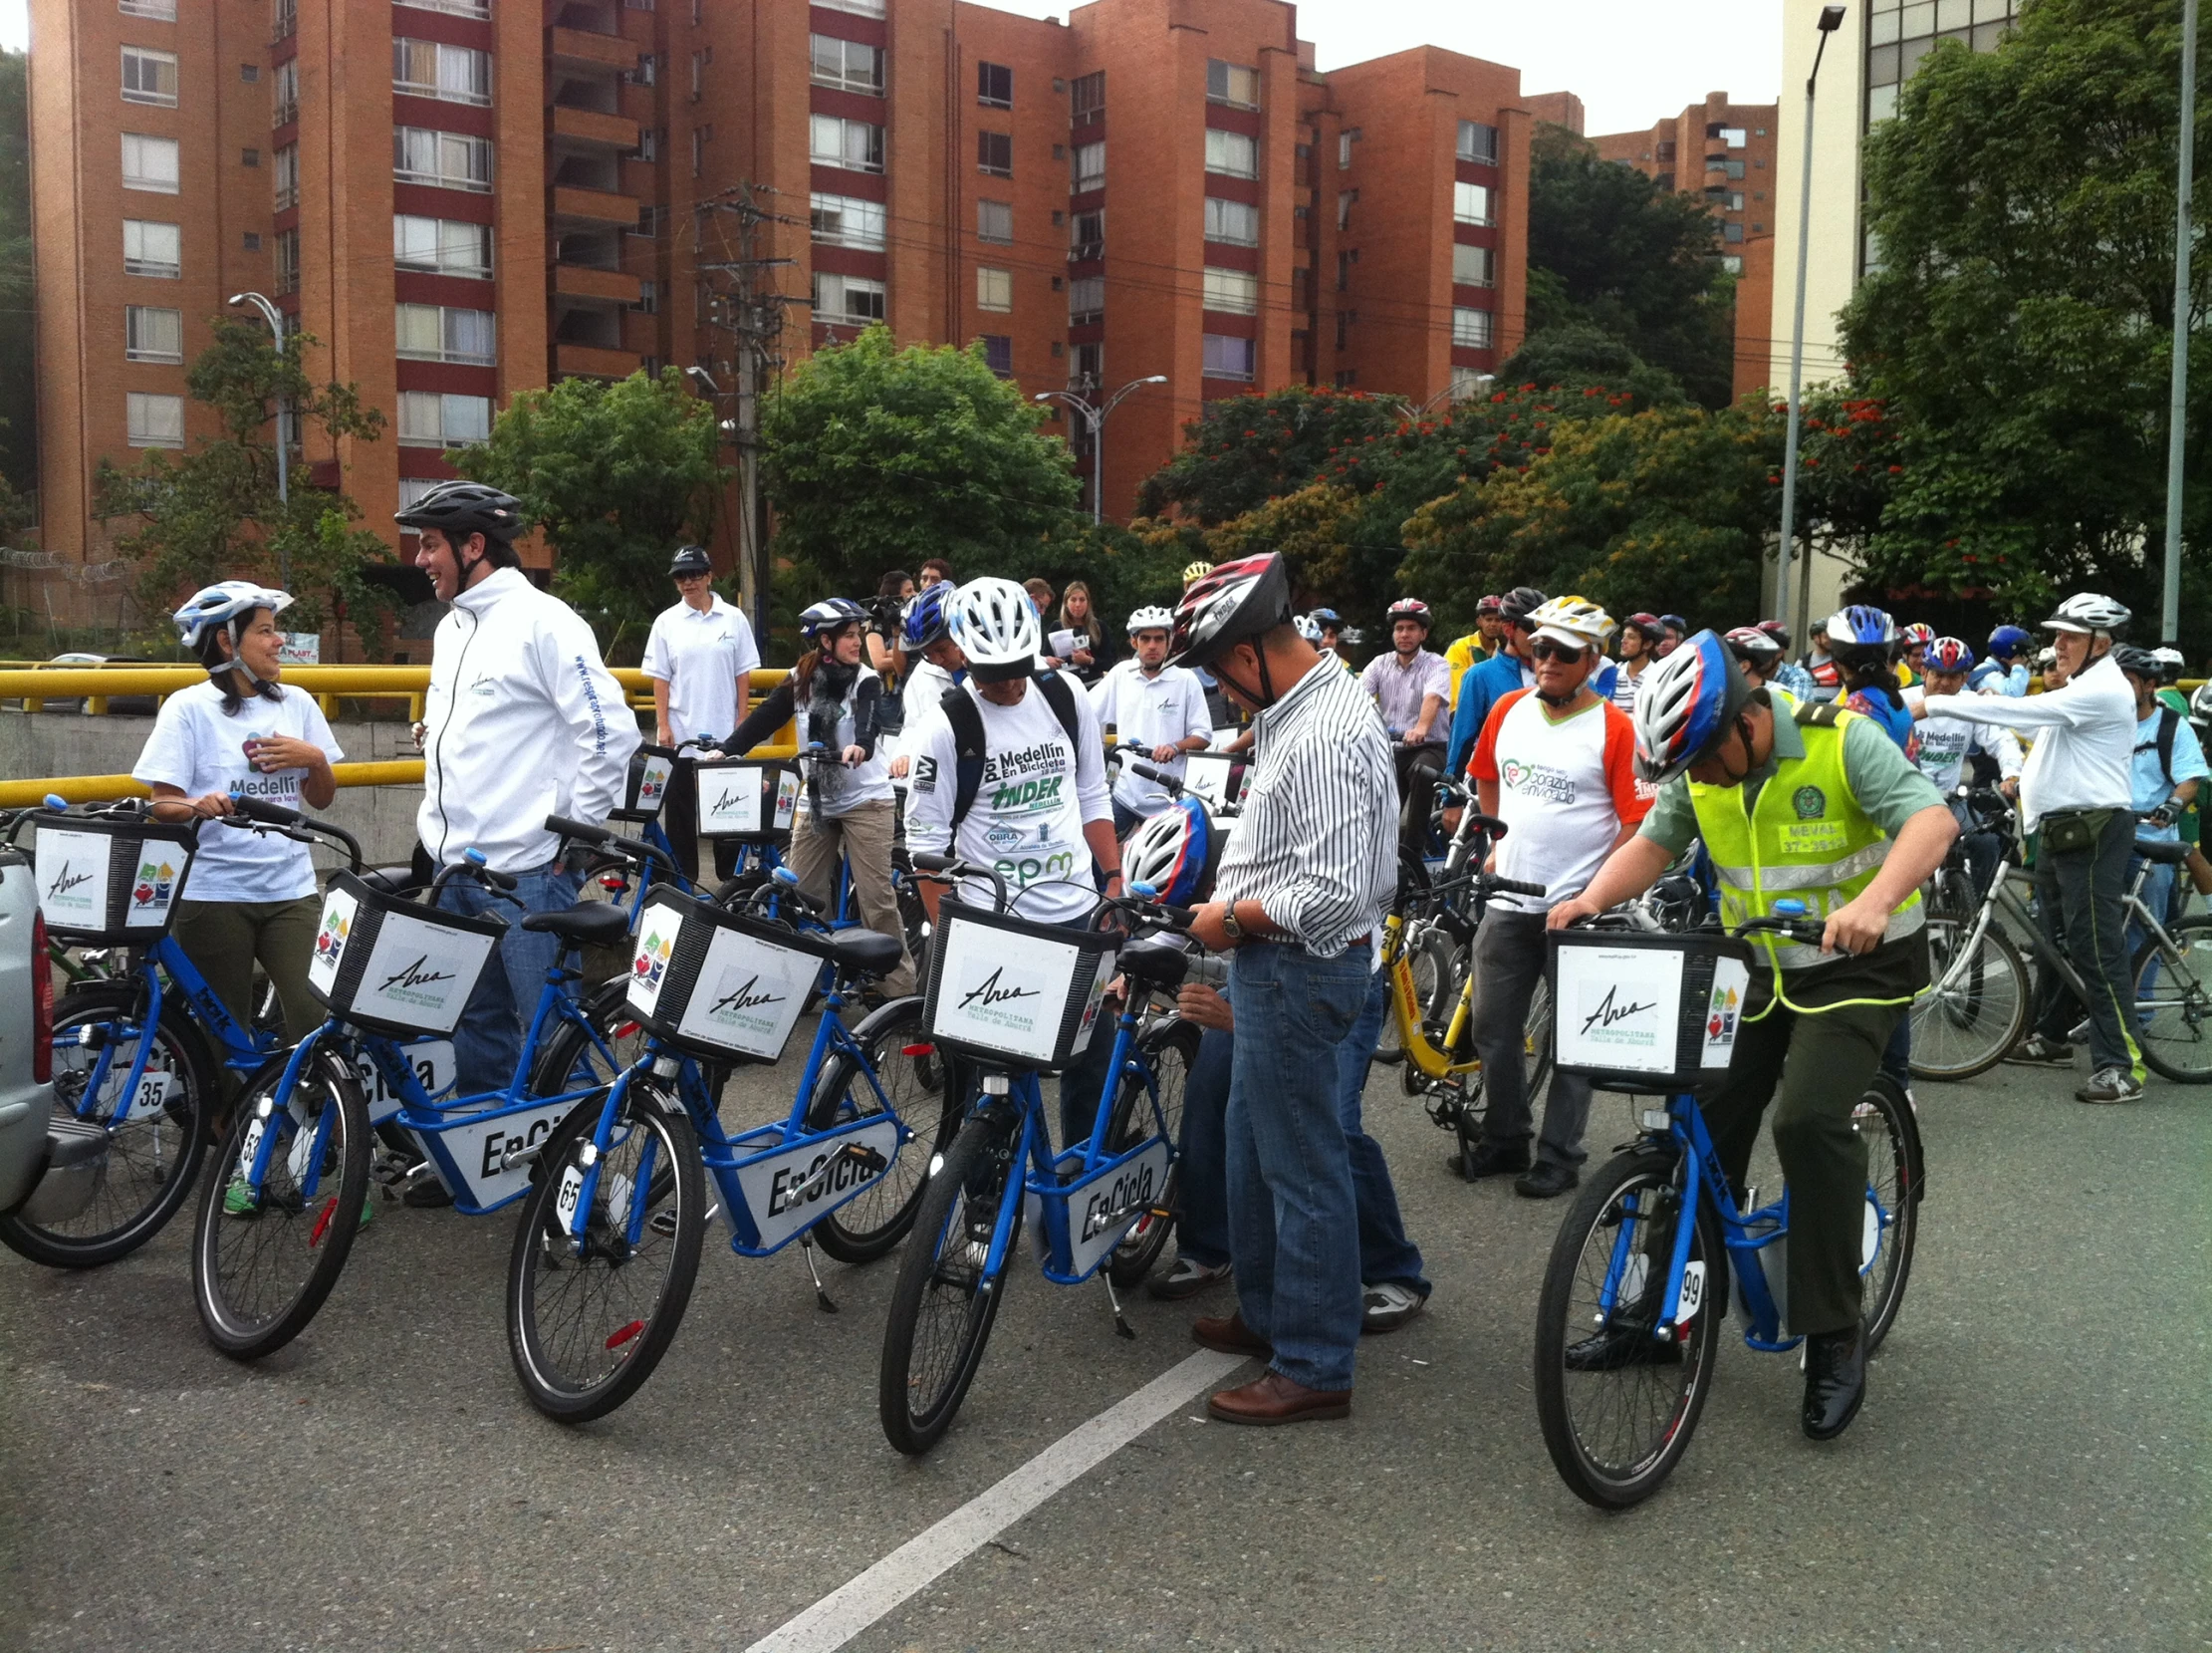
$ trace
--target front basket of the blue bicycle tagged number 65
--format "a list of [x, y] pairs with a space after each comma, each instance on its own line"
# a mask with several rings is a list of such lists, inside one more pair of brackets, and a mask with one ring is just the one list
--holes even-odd
[[708, 1060], [774, 1062], [830, 947], [765, 918], [655, 887], [637, 914], [630, 1013]]

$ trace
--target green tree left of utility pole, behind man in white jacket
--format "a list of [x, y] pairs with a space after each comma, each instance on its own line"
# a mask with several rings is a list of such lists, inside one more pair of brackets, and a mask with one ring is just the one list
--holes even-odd
[[706, 540], [728, 478], [712, 403], [684, 374], [564, 378], [518, 392], [456, 471], [522, 500], [553, 547], [553, 589], [611, 659], [637, 659], [668, 606], [668, 553]]

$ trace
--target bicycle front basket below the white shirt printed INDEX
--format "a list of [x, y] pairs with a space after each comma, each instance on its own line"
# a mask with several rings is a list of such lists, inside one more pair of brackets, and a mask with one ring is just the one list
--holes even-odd
[[929, 947], [929, 1036], [989, 1062], [1051, 1071], [1091, 1044], [1121, 938], [1040, 925], [947, 896]]

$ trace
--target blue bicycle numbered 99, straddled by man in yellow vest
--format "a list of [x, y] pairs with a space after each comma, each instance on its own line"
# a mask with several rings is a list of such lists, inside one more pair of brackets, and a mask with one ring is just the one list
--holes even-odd
[[[1792, 912], [1794, 907], [1794, 912]], [[1559, 1478], [1584, 1503], [1650, 1498], [1690, 1447], [1734, 1301], [1743, 1341], [1785, 1352], [1790, 1191], [1739, 1191], [1705, 1131], [1699, 1093], [1728, 1078], [1750, 985], [1743, 936], [1818, 945], [1803, 903], [1721, 932], [1573, 927], [1553, 938], [1557, 1062], [1599, 1089], [1663, 1098], [1641, 1135], [1559, 1226], [1537, 1306], [1535, 1403]], [[1595, 1013], [1593, 1013], [1595, 1011]], [[1584, 1025], [1588, 1018], [1588, 1025]], [[1898, 1084], [1867, 1080], [1851, 1129], [1867, 1148], [1860, 1301], [1867, 1352], [1889, 1332], [1913, 1266], [1924, 1193], [1920, 1129]]]

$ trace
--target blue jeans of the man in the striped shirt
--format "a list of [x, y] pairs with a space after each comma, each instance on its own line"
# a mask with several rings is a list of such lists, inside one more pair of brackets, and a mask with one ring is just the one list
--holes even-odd
[[1369, 947], [1316, 958], [1245, 943], [1230, 965], [1230, 1257], [1243, 1323], [1270, 1368], [1349, 1390], [1360, 1341], [1360, 1239], [1338, 1111], [1338, 1051], [1367, 1007]]

